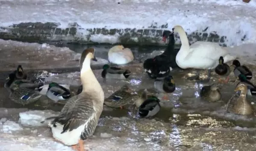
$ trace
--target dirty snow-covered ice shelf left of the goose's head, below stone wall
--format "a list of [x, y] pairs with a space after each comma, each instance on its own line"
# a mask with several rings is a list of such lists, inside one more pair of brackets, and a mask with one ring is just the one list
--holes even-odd
[[[46, 43], [23, 43], [0, 39], [0, 70], [16, 70], [21, 64], [24, 69], [68, 68], [79, 67], [81, 53], [67, 47], [56, 47]], [[97, 48], [96, 48], [97, 49]], [[92, 66], [101, 66], [108, 60], [97, 58], [91, 61]]]

